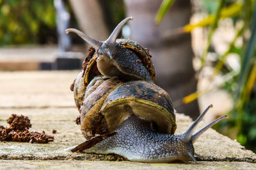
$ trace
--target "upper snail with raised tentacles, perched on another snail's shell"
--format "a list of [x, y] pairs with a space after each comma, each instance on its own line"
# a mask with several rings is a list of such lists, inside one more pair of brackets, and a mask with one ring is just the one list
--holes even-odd
[[[132, 17], [125, 18], [120, 24], [118, 24], [108, 39], [113, 38], [114, 35], [118, 35], [122, 26], [129, 20], [133, 20]], [[83, 39], [89, 43], [95, 42], [96, 40], [92, 40], [92, 38], [88, 37], [81, 31], [77, 29], [67, 29], [66, 32], [75, 32]], [[115, 36], [115, 39], [116, 39]], [[112, 37], [112, 38], [111, 38]], [[106, 43], [108, 44], [108, 39]], [[97, 41], [98, 44], [104, 44], [103, 42]], [[93, 43], [90, 43], [93, 45]], [[151, 55], [148, 52], [147, 48], [143, 48], [139, 43], [136, 41], [132, 41], [131, 39], [116, 39], [115, 46], [118, 46], [118, 49], [121, 48], [119, 52], [120, 55], [116, 55], [118, 50], [115, 48], [111, 48], [110, 51], [113, 53], [111, 56], [115, 57], [108, 57], [108, 52], [106, 55], [99, 54], [99, 48], [105, 48], [104, 46], [94, 46], [89, 49], [92, 53], [89, 53], [85, 59], [85, 63], [83, 64], [84, 70], [78, 74], [77, 78], [75, 79], [74, 83], [71, 86], [71, 90], [74, 91], [74, 99], [77, 106], [77, 109], [80, 110], [81, 103], [84, 100], [84, 94], [86, 89], [90, 89], [90, 85], [93, 85], [96, 80], [104, 80], [106, 78], [118, 78], [120, 80], [129, 81], [129, 80], [145, 80], [156, 83], [156, 72], [154, 69], [153, 62], [151, 60]], [[121, 47], [122, 46], [122, 47]], [[98, 49], [98, 50], [95, 50]], [[98, 52], [97, 52], [98, 51]], [[124, 52], [124, 55], [122, 55]], [[129, 53], [127, 53], [129, 52]], [[115, 55], [114, 55], [115, 54]], [[102, 69], [102, 60], [108, 60], [108, 62], [104, 62], [104, 64], [108, 65], [113, 64], [113, 67], [109, 67], [105, 73], [105, 70]], [[122, 62], [124, 61], [124, 63]], [[129, 70], [127, 70], [127, 67]], [[134, 68], [140, 69], [134, 69]], [[116, 72], [115, 70], [118, 69], [119, 73], [117, 75], [108, 76], [108, 72], [111, 73]], [[138, 71], [138, 73], [136, 72]], [[141, 71], [141, 72], [140, 72]], [[95, 78], [97, 76], [97, 78]]]

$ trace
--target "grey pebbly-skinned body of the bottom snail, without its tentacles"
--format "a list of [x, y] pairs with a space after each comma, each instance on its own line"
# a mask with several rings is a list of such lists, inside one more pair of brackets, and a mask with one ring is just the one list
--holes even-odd
[[127, 118], [115, 132], [115, 135], [84, 152], [115, 153], [135, 162], [164, 163], [195, 160], [192, 141], [182, 141], [182, 135], [153, 131], [150, 122], [134, 115]]

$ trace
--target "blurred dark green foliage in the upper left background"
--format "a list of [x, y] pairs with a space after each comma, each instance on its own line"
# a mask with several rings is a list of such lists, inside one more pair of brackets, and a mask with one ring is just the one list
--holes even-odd
[[[67, 0], [70, 27], [78, 27]], [[100, 0], [109, 31], [125, 18], [124, 1]], [[73, 43], [83, 43], [71, 36]], [[24, 44], [56, 44], [56, 12], [53, 0], [0, 0], [0, 46]]]

